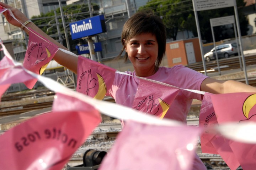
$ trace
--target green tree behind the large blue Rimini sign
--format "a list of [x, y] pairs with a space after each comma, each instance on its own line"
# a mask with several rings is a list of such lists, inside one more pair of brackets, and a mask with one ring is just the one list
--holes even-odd
[[[99, 6], [97, 4], [92, 4], [92, 15], [96, 16], [98, 14]], [[59, 28], [60, 28], [60, 34], [62, 38], [64, 39], [63, 45], [66, 46], [65, 41], [65, 34], [64, 34], [64, 27], [62, 24], [62, 18], [60, 15], [60, 8], [56, 9], [57, 18], [59, 22]], [[90, 18], [90, 12], [88, 4], [72, 4], [63, 6], [63, 13], [64, 13], [64, 19], [66, 23], [66, 29], [68, 32], [70, 32], [69, 23], [80, 21], [82, 19]], [[55, 15], [54, 11], [50, 11], [48, 13], [41, 13], [39, 16], [33, 16], [31, 20], [45, 33], [50, 35], [53, 39], [58, 40], [58, 32], [57, 32], [57, 26], [55, 23]], [[79, 39], [79, 40], [72, 40], [71, 35], [69, 35], [69, 42], [71, 51], [75, 51], [75, 45], [79, 42], [84, 44], [85, 40]]]

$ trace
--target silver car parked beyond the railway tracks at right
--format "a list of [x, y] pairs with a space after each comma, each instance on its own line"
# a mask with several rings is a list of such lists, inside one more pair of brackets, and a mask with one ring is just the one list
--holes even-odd
[[[238, 55], [238, 49], [236, 43], [229, 43], [216, 46], [218, 58], [229, 58], [230, 56]], [[204, 60], [209, 62], [210, 60], [216, 59], [215, 47], [204, 55]]]

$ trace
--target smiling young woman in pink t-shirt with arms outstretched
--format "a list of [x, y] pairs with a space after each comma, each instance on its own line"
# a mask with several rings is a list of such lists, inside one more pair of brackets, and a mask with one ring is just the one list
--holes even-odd
[[[16, 8], [12, 8], [3, 2], [0, 2], [0, 5], [10, 8], [14, 16], [21, 23], [28, 21], [28, 18]], [[4, 15], [12, 25], [22, 26], [22, 24], [9, 15], [9, 12], [6, 11]], [[42, 32], [32, 22], [27, 23], [26, 27], [35, 30], [60, 48], [67, 50], [63, 45]], [[29, 32], [26, 28], [24, 30], [26, 33]], [[238, 81], [215, 80], [181, 65], [172, 68], [159, 67], [165, 54], [166, 32], [161, 19], [152, 12], [137, 12], [128, 19], [123, 27], [122, 45], [123, 49], [120, 55], [125, 51], [126, 60], [129, 59], [134, 67], [134, 72], [126, 72], [130, 75], [160, 81], [182, 89], [201, 90], [213, 94], [256, 92], [255, 87]], [[58, 50], [54, 60], [74, 73], [77, 72], [77, 57]], [[112, 96], [117, 104], [132, 107], [138, 85], [138, 78], [116, 73], [113, 85], [107, 92], [107, 95]], [[202, 100], [202, 96], [185, 90], [180, 91], [171, 104], [171, 109], [168, 110], [165, 118], [186, 123], [186, 117], [193, 99]], [[203, 169], [206, 169], [206, 167], [199, 157], [196, 156], [193, 170]]]

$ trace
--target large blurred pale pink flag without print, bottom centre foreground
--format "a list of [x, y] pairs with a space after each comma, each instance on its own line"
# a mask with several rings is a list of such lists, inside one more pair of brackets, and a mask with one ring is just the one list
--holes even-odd
[[127, 121], [100, 170], [192, 170], [200, 131]]

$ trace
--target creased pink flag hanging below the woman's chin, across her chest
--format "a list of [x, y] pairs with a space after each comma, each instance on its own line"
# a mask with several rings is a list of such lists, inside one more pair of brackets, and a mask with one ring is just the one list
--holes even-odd
[[168, 112], [178, 92], [179, 89], [140, 79], [133, 108], [162, 119]]

